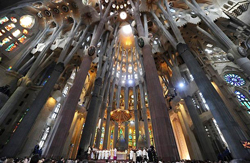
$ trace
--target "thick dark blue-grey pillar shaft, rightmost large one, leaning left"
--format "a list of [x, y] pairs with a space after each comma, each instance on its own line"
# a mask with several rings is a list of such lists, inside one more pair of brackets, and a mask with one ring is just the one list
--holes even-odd
[[244, 149], [240, 143], [241, 140], [245, 140], [244, 134], [229, 113], [227, 107], [205, 75], [199, 63], [190, 52], [188, 46], [186, 44], [179, 43], [177, 50], [193, 75], [200, 92], [207, 101], [210, 111], [217, 121], [227, 144], [229, 145], [229, 149], [232, 152], [233, 157], [238, 159], [250, 159], [249, 152]]

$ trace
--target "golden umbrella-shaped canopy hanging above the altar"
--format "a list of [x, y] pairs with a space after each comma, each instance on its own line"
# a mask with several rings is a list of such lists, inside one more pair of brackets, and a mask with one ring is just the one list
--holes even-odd
[[132, 117], [132, 115], [130, 114], [129, 110], [118, 108], [110, 113], [110, 117], [112, 120], [116, 121], [119, 126], [121, 126], [121, 124], [127, 122]]

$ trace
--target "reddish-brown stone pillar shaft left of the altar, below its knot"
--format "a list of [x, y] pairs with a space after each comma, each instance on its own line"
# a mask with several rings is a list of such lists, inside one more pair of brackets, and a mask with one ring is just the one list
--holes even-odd
[[54, 139], [51, 141], [51, 145], [48, 151], [48, 157], [54, 156], [60, 158], [64, 142], [68, 136], [68, 131], [72, 123], [75, 109], [78, 104], [79, 97], [84, 86], [84, 81], [90, 68], [92, 57], [86, 55], [80, 65], [74, 84], [69, 90], [69, 94], [62, 105], [61, 112], [58, 117], [58, 130], [55, 133]]

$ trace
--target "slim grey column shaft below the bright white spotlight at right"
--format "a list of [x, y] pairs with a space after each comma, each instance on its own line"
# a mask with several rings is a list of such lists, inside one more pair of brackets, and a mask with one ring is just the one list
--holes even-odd
[[194, 132], [199, 141], [203, 158], [205, 160], [209, 159], [209, 160], [215, 161], [217, 159], [216, 154], [214, 152], [211, 141], [209, 140], [207, 136], [205, 128], [200, 120], [199, 114], [194, 106], [192, 97], [187, 96], [184, 98], [184, 101], [187, 105], [190, 117], [192, 119], [192, 122], [194, 125]]

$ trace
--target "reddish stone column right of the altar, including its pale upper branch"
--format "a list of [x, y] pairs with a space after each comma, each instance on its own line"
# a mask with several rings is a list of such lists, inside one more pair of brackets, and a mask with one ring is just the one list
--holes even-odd
[[[158, 157], [163, 159], [163, 161], [178, 160], [178, 150], [169, 115], [166, 111], [167, 107], [163, 97], [163, 90], [159, 81], [154, 59], [152, 57], [152, 48], [149, 42], [147, 42], [148, 38], [145, 38], [145, 29], [143, 28], [140, 19], [139, 3], [136, 2], [134, 5], [132, 0], [130, 0], [130, 3], [132, 4], [134, 11], [133, 16], [137, 24], [137, 32], [144, 42], [144, 45], [141, 46], [141, 48], [157, 154]], [[142, 41], [142, 39], [140, 40]]]

